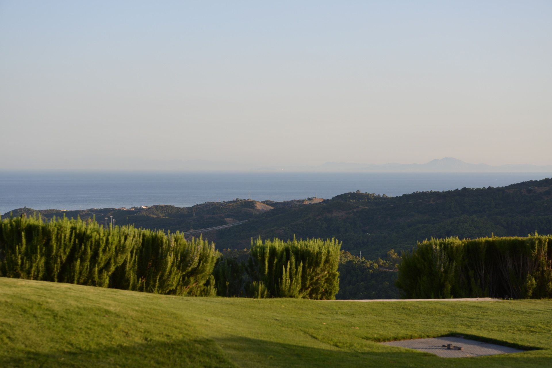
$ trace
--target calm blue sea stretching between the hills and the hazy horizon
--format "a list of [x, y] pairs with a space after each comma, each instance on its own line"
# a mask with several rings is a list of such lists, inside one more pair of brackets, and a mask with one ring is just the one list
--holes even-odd
[[0, 171], [0, 213], [12, 209], [87, 209], [252, 198], [332, 198], [359, 190], [388, 196], [428, 190], [505, 186], [544, 173], [15, 172]]

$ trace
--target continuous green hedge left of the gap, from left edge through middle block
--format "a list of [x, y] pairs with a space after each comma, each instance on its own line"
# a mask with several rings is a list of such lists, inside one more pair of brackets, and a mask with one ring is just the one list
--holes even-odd
[[157, 294], [335, 299], [340, 247], [334, 239], [256, 240], [246, 263], [217, 263], [214, 243], [179, 232], [22, 215], [0, 220], [0, 276]]

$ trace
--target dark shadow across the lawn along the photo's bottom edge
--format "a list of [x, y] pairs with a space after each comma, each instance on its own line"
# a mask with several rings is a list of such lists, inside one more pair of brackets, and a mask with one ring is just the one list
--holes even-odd
[[[548, 367], [548, 356], [518, 354], [480, 358], [439, 358], [418, 351], [405, 351], [374, 343], [373, 351], [354, 352], [338, 348], [312, 348], [266, 340], [230, 337], [217, 339], [151, 341], [99, 349], [27, 352], [0, 358], [1, 367]], [[223, 351], [224, 350], [224, 351]], [[3, 354], [6, 356], [6, 354]]]

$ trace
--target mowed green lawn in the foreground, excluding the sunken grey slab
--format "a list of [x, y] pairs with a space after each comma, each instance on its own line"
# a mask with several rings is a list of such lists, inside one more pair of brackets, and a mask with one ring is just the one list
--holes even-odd
[[[449, 333], [539, 349], [445, 359], [378, 344]], [[0, 366], [550, 367], [552, 301], [175, 297], [0, 278]]]

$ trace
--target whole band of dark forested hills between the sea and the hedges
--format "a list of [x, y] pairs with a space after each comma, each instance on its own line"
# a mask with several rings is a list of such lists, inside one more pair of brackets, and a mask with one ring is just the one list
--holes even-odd
[[[194, 215], [195, 208], [195, 215]], [[416, 192], [399, 197], [350, 192], [322, 201], [288, 202], [236, 199], [193, 207], [156, 205], [150, 208], [80, 211], [17, 209], [13, 215], [39, 212], [45, 217], [92, 218], [104, 223], [171, 231], [197, 230], [248, 220], [241, 225], [205, 232], [217, 248], [248, 248], [261, 236], [336, 237], [343, 249], [367, 259], [385, 257], [390, 248], [410, 249], [429, 237], [526, 236], [552, 233], [552, 179], [500, 188]], [[9, 215], [9, 213], [7, 214]]]

